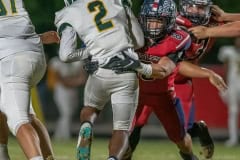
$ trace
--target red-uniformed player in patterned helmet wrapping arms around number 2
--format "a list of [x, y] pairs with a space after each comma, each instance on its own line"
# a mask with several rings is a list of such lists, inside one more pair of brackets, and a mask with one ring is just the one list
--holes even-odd
[[[178, 146], [182, 158], [196, 160], [191, 148], [191, 137], [186, 134], [184, 122], [179, 117], [182, 111], [174, 90], [179, 64], [175, 65], [172, 61], [175, 56], [178, 57], [188, 49], [191, 39], [186, 32], [176, 28], [175, 17], [176, 6], [172, 0], [148, 0], [142, 5], [139, 21], [144, 30], [146, 45], [138, 51], [139, 57], [142, 61], [158, 63], [159, 57], [164, 56], [166, 69], [170, 70], [170, 74], [162, 80], [140, 77], [139, 104], [133, 124], [139, 126], [143, 118], [140, 115], [149, 108], [148, 111], [153, 111], [161, 121], [169, 139]], [[170, 55], [173, 55], [173, 58]], [[174, 67], [170, 67], [170, 64]], [[132, 132], [130, 146], [135, 138], [137, 137]]]

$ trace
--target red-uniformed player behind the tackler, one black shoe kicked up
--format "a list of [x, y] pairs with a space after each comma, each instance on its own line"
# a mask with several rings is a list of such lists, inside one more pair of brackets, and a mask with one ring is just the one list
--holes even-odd
[[[211, 18], [212, 4], [212, 0], [180, 0], [180, 15], [177, 17], [178, 25], [185, 30], [198, 25], [219, 25], [218, 22]], [[192, 37], [192, 44], [186, 52], [184, 59], [191, 63], [198, 64], [200, 59], [211, 49], [215, 39], [207, 38], [199, 40], [194, 35], [190, 35]], [[192, 138], [199, 138], [204, 157], [211, 158], [214, 153], [214, 143], [209, 134], [208, 127], [203, 120], [195, 122], [192, 79], [178, 75], [175, 84], [177, 97], [181, 100], [184, 108], [186, 119], [185, 127]]]

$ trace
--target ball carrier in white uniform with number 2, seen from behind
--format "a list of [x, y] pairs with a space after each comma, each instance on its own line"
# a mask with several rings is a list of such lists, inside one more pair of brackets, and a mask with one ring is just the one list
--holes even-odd
[[[89, 57], [87, 60], [95, 64], [88, 66], [92, 72], [85, 86], [84, 107], [80, 114], [77, 158], [90, 159], [92, 126], [111, 100], [113, 132], [108, 159], [121, 159], [128, 146], [128, 133], [138, 102], [138, 79], [133, 68], [151, 76], [157, 65], [141, 64], [134, 52], [144, 41], [129, 1], [65, 0], [65, 4], [55, 18], [61, 35], [60, 59], [70, 62]], [[77, 37], [85, 48], [77, 50]], [[114, 71], [118, 66], [124, 68], [121, 74]], [[156, 74], [161, 71], [156, 70]]]

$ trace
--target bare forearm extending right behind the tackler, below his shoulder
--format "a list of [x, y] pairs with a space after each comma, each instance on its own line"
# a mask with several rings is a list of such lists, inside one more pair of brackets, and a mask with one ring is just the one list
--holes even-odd
[[183, 61], [179, 64], [179, 73], [190, 78], [208, 78], [211, 75], [211, 70], [201, 68], [192, 63]]

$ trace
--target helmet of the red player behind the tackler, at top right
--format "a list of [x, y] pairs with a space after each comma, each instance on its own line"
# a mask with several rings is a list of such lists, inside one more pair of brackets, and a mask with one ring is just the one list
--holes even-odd
[[180, 0], [180, 14], [193, 25], [206, 25], [211, 17], [211, 0]]

